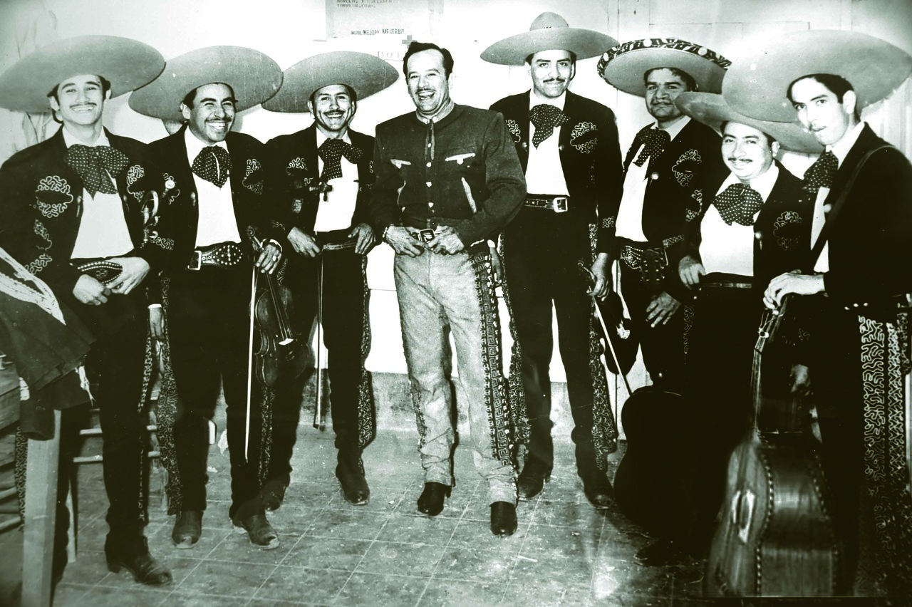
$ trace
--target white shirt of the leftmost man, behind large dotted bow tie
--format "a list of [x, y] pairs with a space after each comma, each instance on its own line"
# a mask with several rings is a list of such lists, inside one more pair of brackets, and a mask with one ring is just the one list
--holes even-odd
[[[67, 148], [73, 145], [110, 146], [104, 130], [95, 142], [88, 144], [77, 139], [66, 127], [63, 129], [63, 140]], [[109, 176], [110, 179], [110, 176]], [[114, 189], [117, 182], [111, 179]], [[123, 216], [123, 201], [119, 194], [95, 192], [92, 197], [88, 190], [82, 191], [82, 216], [79, 218], [79, 231], [70, 259], [90, 259], [95, 257], [118, 257], [133, 250], [130, 230]]]

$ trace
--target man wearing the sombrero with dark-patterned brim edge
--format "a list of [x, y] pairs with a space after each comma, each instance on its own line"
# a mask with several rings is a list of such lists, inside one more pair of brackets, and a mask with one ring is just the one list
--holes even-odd
[[621, 263], [621, 293], [649, 378], [672, 392], [684, 384], [686, 314], [679, 308], [690, 298], [675, 263], [685, 226], [700, 214], [706, 184], [724, 174], [719, 136], [682, 115], [674, 100], [694, 87], [719, 92], [730, 63], [675, 38], [627, 42], [608, 49], [598, 63], [608, 84], [643, 97], [656, 118], [627, 150], [624, 191], [604, 221], [609, 261]]

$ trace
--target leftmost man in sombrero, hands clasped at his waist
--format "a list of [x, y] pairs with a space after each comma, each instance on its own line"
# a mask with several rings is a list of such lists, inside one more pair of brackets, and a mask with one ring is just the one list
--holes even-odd
[[97, 381], [92, 396], [104, 433], [105, 556], [111, 571], [125, 568], [147, 584], [171, 582], [143, 534], [149, 439], [142, 415], [145, 279], [166, 262], [171, 243], [145, 232], [161, 192], [149, 147], [110, 133], [102, 114], [109, 98], [162, 67], [161, 54], [135, 40], [80, 36], [39, 49], [0, 76], [0, 106], [41, 112], [49, 103], [63, 125], [0, 168], [0, 245], [97, 338], [86, 369]]

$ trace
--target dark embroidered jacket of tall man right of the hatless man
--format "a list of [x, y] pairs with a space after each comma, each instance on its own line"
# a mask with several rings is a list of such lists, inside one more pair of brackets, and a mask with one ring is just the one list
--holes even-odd
[[[491, 106], [494, 111], [503, 114], [523, 173], [529, 162], [531, 145], [529, 95], [526, 91], [503, 98]], [[581, 206], [586, 219], [597, 223], [596, 252], [606, 252], [610, 240], [606, 217], [609, 209], [617, 209], [620, 204], [622, 187], [621, 150], [615, 115], [602, 104], [570, 91], [566, 93], [564, 113], [570, 121], [560, 128], [557, 146], [571, 204]]]

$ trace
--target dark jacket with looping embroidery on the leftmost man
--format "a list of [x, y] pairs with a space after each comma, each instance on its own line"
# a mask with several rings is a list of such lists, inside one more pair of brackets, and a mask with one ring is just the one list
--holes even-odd
[[[167, 241], [146, 241], [143, 204], [151, 192], [161, 192], [161, 172], [145, 143], [113, 135], [108, 129], [105, 135], [111, 147], [130, 159], [127, 170], [115, 176], [136, 247], [130, 255], [145, 259], [154, 272], [164, 265], [169, 252]], [[69, 261], [85, 191], [66, 157], [61, 127], [49, 139], [14, 154], [0, 168], [0, 246], [64, 297], [72, 294], [80, 276]]]

